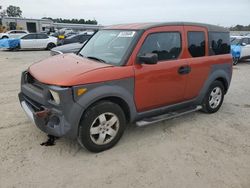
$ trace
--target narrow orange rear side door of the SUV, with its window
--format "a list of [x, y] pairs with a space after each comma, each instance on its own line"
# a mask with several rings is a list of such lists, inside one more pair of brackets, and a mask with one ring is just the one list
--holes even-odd
[[199, 95], [210, 71], [210, 56], [208, 54], [207, 29], [198, 26], [184, 26], [185, 39], [187, 40], [186, 62], [190, 67], [185, 100], [190, 100]]

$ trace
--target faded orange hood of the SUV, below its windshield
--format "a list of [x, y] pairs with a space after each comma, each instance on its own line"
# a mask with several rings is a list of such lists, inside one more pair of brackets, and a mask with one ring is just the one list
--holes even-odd
[[113, 67], [83, 58], [75, 54], [62, 54], [50, 57], [29, 67], [29, 73], [38, 81], [58, 86], [79, 84], [78, 78], [94, 70]]

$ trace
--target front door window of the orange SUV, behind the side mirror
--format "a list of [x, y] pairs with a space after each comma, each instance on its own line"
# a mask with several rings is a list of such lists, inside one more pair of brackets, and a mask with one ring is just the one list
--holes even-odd
[[144, 41], [139, 54], [156, 53], [158, 60], [177, 59], [181, 52], [181, 34], [165, 32], [150, 34]]

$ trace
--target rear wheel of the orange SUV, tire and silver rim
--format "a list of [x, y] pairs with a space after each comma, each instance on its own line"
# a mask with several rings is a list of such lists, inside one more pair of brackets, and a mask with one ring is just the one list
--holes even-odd
[[225, 88], [222, 82], [214, 81], [203, 100], [202, 111], [209, 114], [217, 112], [223, 103], [224, 95]]

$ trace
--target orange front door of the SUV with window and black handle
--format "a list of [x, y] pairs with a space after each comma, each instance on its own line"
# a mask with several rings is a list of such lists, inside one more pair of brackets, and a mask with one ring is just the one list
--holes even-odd
[[137, 55], [156, 53], [154, 65], [135, 62], [135, 103], [137, 111], [167, 106], [184, 100], [187, 62], [182, 59], [183, 27], [168, 26], [143, 34]]

